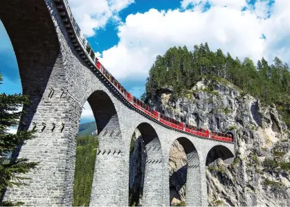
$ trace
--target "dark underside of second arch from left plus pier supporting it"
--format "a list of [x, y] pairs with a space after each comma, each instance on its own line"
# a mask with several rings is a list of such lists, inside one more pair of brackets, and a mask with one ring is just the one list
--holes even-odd
[[127, 149], [114, 102], [101, 90], [93, 91], [87, 101], [98, 133], [90, 206], [127, 205]]

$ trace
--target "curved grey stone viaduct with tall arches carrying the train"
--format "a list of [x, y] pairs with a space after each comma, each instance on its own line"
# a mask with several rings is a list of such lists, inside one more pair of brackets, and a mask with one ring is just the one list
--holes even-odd
[[176, 139], [188, 157], [186, 204], [207, 206], [207, 159], [233, 157], [234, 145], [174, 131], [129, 107], [93, 73], [71, 18], [64, 0], [0, 0], [0, 19], [15, 50], [23, 93], [31, 100], [19, 129], [37, 129], [37, 137], [15, 156], [40, 161], [26, 174], [28, 185], [8, 188], [4, 200], [72, 205], [75, 140], [88, 100], [99, 136], [91, 206], [128, 205], [129, 145], [136, 128], [147, 151], [144, 206], [170, 205], [168, 162]]

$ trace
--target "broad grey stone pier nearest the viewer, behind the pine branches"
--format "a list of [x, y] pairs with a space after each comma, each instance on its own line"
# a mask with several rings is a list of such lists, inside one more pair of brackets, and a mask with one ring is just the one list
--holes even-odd
[[8, 188], [4, 200], [23, 201], [28, 206], [72, 205], [75, 138], [82, 106], [63, 92], [47, 87], [44, 96], [30, 96], [33, 103], [24, 108], [27, 113], [19, 129], [36, 129], [36, 138], [12, 156], [40, 163], [35, 170], [21, 174], [29, 178], [24, 181], [27, 186]]

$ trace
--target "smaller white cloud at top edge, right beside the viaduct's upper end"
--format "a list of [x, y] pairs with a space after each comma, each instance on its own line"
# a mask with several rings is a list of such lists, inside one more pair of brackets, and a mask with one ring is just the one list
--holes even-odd
[[119, 21], [118, 12], [134, 0], [68, 0], [82, 33], [95, 35], [95, 30], [104, 27], [110, 18]]

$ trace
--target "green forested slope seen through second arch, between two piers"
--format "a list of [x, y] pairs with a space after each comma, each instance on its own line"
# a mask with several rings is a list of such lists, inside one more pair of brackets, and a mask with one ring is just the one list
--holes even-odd
[[98, 138], [94, 136], [78, 137], [75, 157], [73, 206], [89, 206], [97, 150]]

